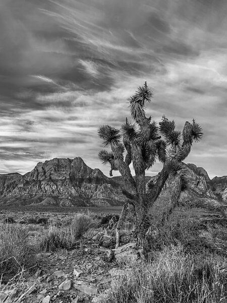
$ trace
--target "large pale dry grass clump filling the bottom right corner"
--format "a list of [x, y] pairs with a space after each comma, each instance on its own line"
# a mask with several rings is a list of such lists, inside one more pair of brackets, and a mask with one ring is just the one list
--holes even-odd
[[156, 251], [148, 263], [116, 279], [107, 303], [217, 303], [227, 292], [223, 264], [194, 258], [182, 246]]

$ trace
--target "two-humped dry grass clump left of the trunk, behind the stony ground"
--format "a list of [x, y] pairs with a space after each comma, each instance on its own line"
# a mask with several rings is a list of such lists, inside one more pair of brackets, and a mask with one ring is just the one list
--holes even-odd
[[71, 249], [94, 224], [89, 214], [76, 214], [70, 224], [65, 227], [50, 225], [48, 234], [42, 239], [40, 247], [45, 251], [53, 251], [57, 248]]

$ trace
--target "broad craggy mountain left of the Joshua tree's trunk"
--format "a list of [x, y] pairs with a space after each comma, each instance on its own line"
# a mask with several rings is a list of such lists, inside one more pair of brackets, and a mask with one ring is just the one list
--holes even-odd
[[38, 163], [25, 175], [0, 175], [0, 203], [55, 206], [115, 206], [125, 202], [121, 186], [81, 158]]

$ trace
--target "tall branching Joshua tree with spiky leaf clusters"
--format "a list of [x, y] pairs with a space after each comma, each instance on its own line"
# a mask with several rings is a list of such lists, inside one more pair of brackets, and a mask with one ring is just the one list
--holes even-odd
[[[175, 122], [169, 121], [165, 116], [158, 126], [145, 114], [145, 104], [151, 102], [152, 96], [152, 90], [145, 82], [129, 99], [133, 122], [126, 118], [121, 129], [109, 125], [98, 129], [103, 145], [111, 148], [110, 151], [101, 150], [98, 157], [103, 164], [110, 164], [110, 176], [113, 170], [122, 175], [125, 183], [123, 193], [135, 209], [135, 237], [141, 249], [145, 248], [146, 234], [151, 223], [150, 207], [158, 198], [169, 174], [172, 174], [176, 177], [176, 184], [171, 206], [165, 210], [163, 219], [172, 213], [188, 182], [182, 161], [189, 155], [193, 141], [199, 141], [203, 134], [201, 126], [195, 120], [192, 123], [185, 122], [182, 132], [176, 130]], [[156, 181], [149, 182], [146, 190], [145, 171], [152, 167], [156, 159], [163, 164], [163, 168]], [[131, 163], [135, 178], [129, 168]]]

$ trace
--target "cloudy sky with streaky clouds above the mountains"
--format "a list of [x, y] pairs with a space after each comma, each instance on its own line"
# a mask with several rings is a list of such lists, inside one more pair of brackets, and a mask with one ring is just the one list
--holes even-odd
[[147, 81], [147, 115], [203, 127], [185, 162], [227, 175], [226, 15], [226, 0], [1, 0], [0, 173], [81, 157], [107, 175], [97, 128], [120, 128]]

